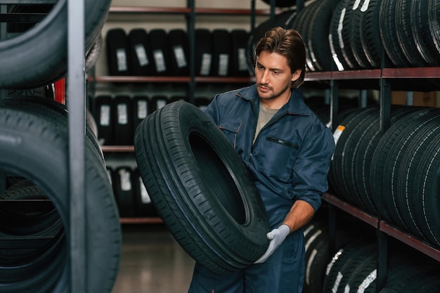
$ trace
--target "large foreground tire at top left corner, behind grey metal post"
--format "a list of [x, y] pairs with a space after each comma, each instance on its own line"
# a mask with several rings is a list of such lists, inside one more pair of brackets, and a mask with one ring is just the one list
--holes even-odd
[[[85, 1], [84, 56], [101, 34], [110, 3]], [[63, 77], [67, 72], [66, 20], [67, 0], [59, 0], [38, 25], [0, 41], [0, 88], [36, 88]]]

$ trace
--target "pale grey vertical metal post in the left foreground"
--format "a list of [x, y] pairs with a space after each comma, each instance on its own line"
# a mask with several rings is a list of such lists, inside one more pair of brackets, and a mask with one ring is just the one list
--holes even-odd
[[69, 110], [70, 292], [88, 293], [84, 137], [86, 73], [84, 0], [67, 1], [67, 109]]

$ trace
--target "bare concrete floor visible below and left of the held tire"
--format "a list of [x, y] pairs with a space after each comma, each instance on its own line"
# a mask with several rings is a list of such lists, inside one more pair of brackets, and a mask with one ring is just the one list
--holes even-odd
[[112, 293], [186, 293], [193, 259], [162, 224], [124, 224]]

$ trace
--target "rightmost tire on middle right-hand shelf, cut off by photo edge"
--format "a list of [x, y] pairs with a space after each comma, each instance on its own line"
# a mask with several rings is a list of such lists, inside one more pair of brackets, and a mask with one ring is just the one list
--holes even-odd
[[[398, 207], [414, 235], [440, 247], [439, 186], [440, 119], [426, 124], [401, 159], [396, 184]], [[404, 184], [402, 186], [402, 184]]]

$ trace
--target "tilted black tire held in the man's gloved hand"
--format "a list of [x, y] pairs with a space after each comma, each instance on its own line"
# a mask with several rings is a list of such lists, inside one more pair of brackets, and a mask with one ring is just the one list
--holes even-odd
[[266, 252], [270, 228], [250, 172], [199, 108], [179, 100], [153, 112], [134, 147], [158, 214], [195, 261], [228, 273]]

